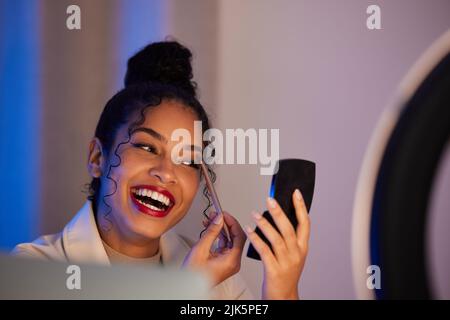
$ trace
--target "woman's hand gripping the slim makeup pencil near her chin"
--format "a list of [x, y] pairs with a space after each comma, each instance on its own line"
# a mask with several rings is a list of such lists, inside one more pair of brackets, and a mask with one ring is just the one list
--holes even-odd
[[[231, 248], [224, 246], [223, 238], [221, 238], [217, 249], [211, 250], [219, 235], [223, 237], [221, 230], [224, 219], [230, 231], [233, 246]], [[189, 251], [184, 259], [183, 267], [205, 271], [212, 280], [212, 285], [216, 286], [240, 270], [246, 235], [239, 222], [227, 212], [216, 215], [211, 223], [204, 224], [207, 229]]]

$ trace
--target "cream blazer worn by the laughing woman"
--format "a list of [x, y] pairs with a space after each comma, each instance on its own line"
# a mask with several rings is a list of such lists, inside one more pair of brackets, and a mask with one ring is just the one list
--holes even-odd
[[[164, 265], [181, 267], [190, 249], [189, 240], [172, 230], [161, 237], [160, 250]], [[86, 201], [62, 232], [42, 236], [31, 243], [19, 244], [12, 254], [70, 263], [107, 266], [111, 264], [100, 238], [90, 201]], [[253, 299], [251, 291], [239, 274], [217, 285], [211, 292], [211, 297], [230, 300]]]

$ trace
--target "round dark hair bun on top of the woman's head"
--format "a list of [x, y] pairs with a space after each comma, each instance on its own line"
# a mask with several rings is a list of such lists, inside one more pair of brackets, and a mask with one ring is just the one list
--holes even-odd
[[128, 59], [125, 87], [158, 82], [179, 87], [196, 96], [191, 59], [191, 51], [176, 41], [151, 43]]

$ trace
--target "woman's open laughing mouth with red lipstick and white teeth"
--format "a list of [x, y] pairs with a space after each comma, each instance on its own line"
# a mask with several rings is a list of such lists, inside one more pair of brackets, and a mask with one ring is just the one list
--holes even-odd
[[162, 218], [169, 214], [175, 204], [174, 196], [164, 188], [138, 185], [130, 189], [134, 206], [142, 213]]

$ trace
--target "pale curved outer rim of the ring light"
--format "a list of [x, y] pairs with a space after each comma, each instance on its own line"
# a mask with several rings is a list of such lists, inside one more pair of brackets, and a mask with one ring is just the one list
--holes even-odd
[[[378, 291], [369, 289], [366, 282], [369, 277], [367, 268], [374, 264], [373, 246], [374, 244], [378, 245], [371, 240], [371, 236], [374, 236], [374, 208], [377, 205], [375, 192], [377, 191], [377, 182], [380, 178], [381, 166], [386, 156], [388, 144], [393, 133], [398, 129], [399, 120], [406, 113], [409, 102], [420, 89], [420, 86], [429, 78], [435, 68], [443, 64], [444, 60], [447, 61], [449, 57], [450, 30], [434, 42], [403, 79], [395, 98], [390, 103], [390, 107], [383, 112], [370, 139], [358, 178], [352, 221], [353, 277], [356, 294], [360, 299], [380, 298]], [[383, 225], [383, 227], [385, 226]], [[378, 226], [378, 228], [381, 228], [381, 226]], [[381, 269], [381, 277], [383, 277], [383, 268]], [[396, 292], [400, 291], [397, 290]], [[423, 295], [418, 296], [423, 297]], [[390, 294], [387, 298], [392, 297], [403, 296], [401, 294]]]

